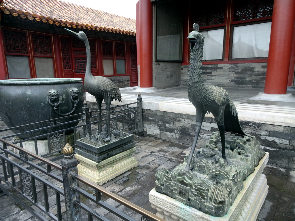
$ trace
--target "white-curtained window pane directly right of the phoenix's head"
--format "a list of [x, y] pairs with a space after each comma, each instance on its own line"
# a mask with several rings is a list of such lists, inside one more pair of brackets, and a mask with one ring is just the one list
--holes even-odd
[[222, 59], [224, 29], [200, 33], [205, 37], [203, 60]]

